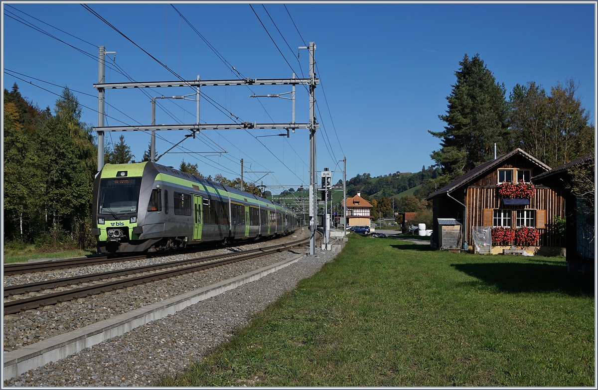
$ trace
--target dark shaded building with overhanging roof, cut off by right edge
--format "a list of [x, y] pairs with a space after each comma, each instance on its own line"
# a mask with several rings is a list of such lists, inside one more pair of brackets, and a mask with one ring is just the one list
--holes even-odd
[[[547, 172], [533, 176], [535, 183], [551, 188], [561, 188], [565, 197], [566, 232], [565, 248], [569, 270], [594, 272], [594, 212], [585, 212], [585, 204], [573, 194], [569, 169], [581, 165], [594, 164], [594, 155], [587, 154], [569, 163], [557, 166]], [[589, 218], [588, 218], [589, 217]]]

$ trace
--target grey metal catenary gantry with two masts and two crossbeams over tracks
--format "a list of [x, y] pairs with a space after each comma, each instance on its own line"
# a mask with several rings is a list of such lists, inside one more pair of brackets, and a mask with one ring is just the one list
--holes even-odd
[[[126, 132], [132, 130], [154, 131], [154, 130], [225, 130], [225, 129], [308, 129], [309, 130], [309, 215], [310, 215], [310, 255], [315, 255], [316, 248], [316, 218], [318, 215], [318, 202], [316, 199], [318, 191], [317, 172], [316, 172], [316, 130], [320, 125], [316, 122], [315, 112], [315, 91], [316, 85], [320, 81], [316, 78], [314, 53], [316, 50], [315, 42], [309, 42], [309, 47], [300, 47], [300, 49], [309, 49], [309, 78], [243, 78], [237, 80], [175, 80], [175, 81], [147, 81], [135, 83], [105, 83], [105, 56], [106, 53], [115, 53], [106, 51], [105, 47], [99, 48], [99, 77], [98, 83], [93, 84], [97, 89], [98, 109], [97, 127], [93, 130], [97, 132], [97, 170], [102, 170], [104, 166], [104, 132]], [[211, 86], [276, 86], [304, 84], [309, 86], [309, 123], [220, 123], [220, 124], [152, 124], [151, 126], [104, 126], [104, 92], [106, 89], [125, 89], [125, 88], [158, 88], [158, 87], [194, 87], [199, 95], [200, 87]], [[199, 118], [199, 97], [197, 98], [197, 117]]]

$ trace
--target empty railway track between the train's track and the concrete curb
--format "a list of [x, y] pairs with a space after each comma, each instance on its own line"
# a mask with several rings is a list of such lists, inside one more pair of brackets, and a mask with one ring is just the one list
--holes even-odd
[[[24, 298], [4, 303], [4, 314], [18, 313], [23, 310], [36, 309], [37, 307], [56, 304], [72, 299], [83, 298], [89, 295], [100, 294], [102, 292], [117, 290], [119, 288], [131, 287], [160, 279], [172, 278], [173, 276], [184, 275], [185, 273], [197, 272], [210, 269], [212, 267], [224, 266], [225, 264], [236, 263], [237, 261], [249, 260], [251, 258], [261, 257], [273, 254], [283, 250], [288, 250], [296, 246], [305, 245], [308, 239], [296, 240], [294, 242], [273, 245], [266, 248], [250, 249], [248, 251], [237, 252], [237, 254], [213, 255], [207, 257], [197, 257], [187, 260], [172, 261], [170, 263], [157, 264], [152, 266], [134, 267], [132, 269], [118, 270], [114, 272], [96, 273], [93, 275], [74, 276], [72, 278], [57, 279], [55, 281], [34, 282], [24, 285], [14, 285], [4, 290], [4, 296], [23, 294], [33, 291], [47, 290], [56, 287], [81, 284], [100, 279], [114, 278], [117, 276], [126, 276], [136, 273], [151, 272], [160, 269], [179, 267], [164, 272], [151, 273], [149, 275], [135, 276], [133, 278], [121, 279], [102, 284], [91, 285], [87, 287], [74, 288], [72, 290], [59, 291], [51, 294], [39, 295], [37, 297]], [[199, 263], [199, 264], [198, 264]], [[191, 264], [191, 265], [188, 265]], [[88, 265], [88, 264], [86, 264]], [[185, 266], [186, 267], [181, 267]]]

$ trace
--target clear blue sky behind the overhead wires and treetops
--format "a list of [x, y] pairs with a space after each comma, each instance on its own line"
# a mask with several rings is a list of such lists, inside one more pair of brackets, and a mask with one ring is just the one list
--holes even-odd
[[[97, 83], [98, 45], [116, 51], [116, 64], [136, 81], [176, 80], [79, 4], [3, 5], [3, 87], [10, 89], [16, 82], [22, 95], [41, 108], [52, 108], [57, 96], [18, 80], [7, 69], [25, 74], [19, 77], [54, 93], [60, 94], [62, 89], [32, 77], [90, 94], [75, 92], [80, 103], [89, 107], [83, 108], [83, 121], [93, 126], [97, 125], [97, 112], [93, 111], [97, 109], [97, 92], [93, 83]], [[203, 80], [235, 78], [170, 5], [91, 4], [90, 7], [185, 80], [196, 75]], [[245, 77], [291, 77], [291, 68], [249, 4], [175, 4], [175, 7]], [[347, 157], [347, 178], [364, 172], [372, 176], [397, 170], [417, 172], [422, 166], [431, 165], [429, 155], [440, 146], [439, 139], [429, 135], [428, 130], [443, 129], [445, 123], [438, 115], [446, 111], [446, 97], [464, 54], [471, 57], [479, 53], [496, 80], [505, 84], [507, 97], [517, 83], [535, 81], [550, 91], [557, 82], [574, 78], [579, 84], [577, 96], [591, 112], [591, 121], [595, 120], [594, 4], [287, 4], [298, 32], [282, 4], [266, 4], [267, 12], [292, 51], [263, 6], [252, 4], [252, 7], [298, 75], [300, 68], [306, 77], [308, 74], [307, 51], [301, 51], [301, 66], [295, 58], [297, 48], [304, 45], [301, 36], [308, 44], [316, 42], [317, 77], [321, 80], [316, 89], [319, 105], [316, 117], [324, 127], [318, 133], [318, 170], [324, 167], [334, 170], [336, 160], [343, 156]], [[94, 58], [9, 16], [22, 17]], [[107, 82], [127, 81], [111, 67], [106, 69]], [[262, 86], [252, 90], [266, 95], [291, 89]], [[258, 99], [249, 97], [252, 92], [246, 87], [206, 87], [202, 92], [242, 120], [258, 123], [291, 120], [289, 100], [260, 99], [264, 110]], [[152, 96], [188, 93], [191, 93], [188, 88], [148, 91]], [[139, 90], [109, 91], [106, 102], [133, 118], [106, 105], [108, 126], [150, 123], [149, 97]], [[194, 123], [194, 102], [164, 99], [161, 103], [172, 117], [182, 123]], [[157, 109], [157, 123], [172, 124], [175, 122], [172, 117]], [[205, 99], [201, 119], [208, 123], [232, 122]], [[309, 100], [302, 86], [297, 87], [296, 120], [309, 121]], [[277, 130], [252, 130], [255, 136], [276, 133]], [[116, 142], [120, 134], [107, 135], [106, 142]], [[183, 131], [159, 132], [158, 154], [181, 141], [184, 135]], [[127, 132], [124, 136], [136, 159], [141, 160], [149, 135]], [[222, 173], [233, 178], [239, 175], [239, 160], [243, 158], [252, 162], [246, 165], [246, 170], [274, 171], [273, 177], [264, 178], [267, 185], [309, 184], [307, 130], [297, 130], [288, 139], [259, 138], [267, 148], [243, 130], [206, 130], [205, 136], [219, 146], [203, 135], [187, 139], [182, 145], [187, 151], [228, 153], [221, 157], [169, 153], [159, 162], [178, 167], [181, 159], [185, 159], [197, 163], [205, 175]], [[246, 174], [254, 180], [260, 176]], [[334, 181], [338, 178], [341, 175], [335, 173]]]

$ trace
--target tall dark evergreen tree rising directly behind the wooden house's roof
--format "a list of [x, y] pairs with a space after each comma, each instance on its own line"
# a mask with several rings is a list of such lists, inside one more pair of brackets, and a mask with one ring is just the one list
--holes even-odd
[[504, 84], [496, 82], [479, 54], [472, 59], [465, 54], [459, 65], [447, 114], [438, 115], [447, 126], [429, 132], [442, 140], [431, 157], [443, 169], [445, 182], [492, 159], [495, 142], [501, 153], [510, 148]]

